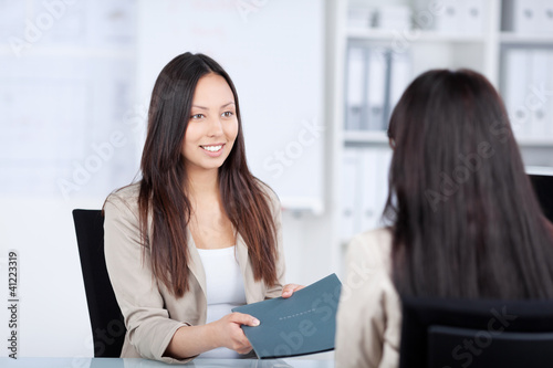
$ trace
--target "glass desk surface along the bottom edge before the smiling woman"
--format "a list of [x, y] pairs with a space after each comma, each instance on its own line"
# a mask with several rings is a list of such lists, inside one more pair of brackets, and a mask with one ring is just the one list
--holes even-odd
[[[306, 358], [286, 359], [195, 359], [185, 367], [248, 367], [248, 368], [331, 368], [334, 360], [315, 360]], [[7, 358], [0, 357], [0, 367], [29, 368], [150, 368], [179, 367], [148, 359], [131, 358]]]

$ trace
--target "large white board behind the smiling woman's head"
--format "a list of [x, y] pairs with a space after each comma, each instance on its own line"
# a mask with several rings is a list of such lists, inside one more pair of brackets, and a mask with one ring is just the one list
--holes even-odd
[[238, 90], [252, 172], [285, 208], [322, 212], [324, 1], [216, 3], [138, 1], [138, 97], [176, 55], [213, 57]]

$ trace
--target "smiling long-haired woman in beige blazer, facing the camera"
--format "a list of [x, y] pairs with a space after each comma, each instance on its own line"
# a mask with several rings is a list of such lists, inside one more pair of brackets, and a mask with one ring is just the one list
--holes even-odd
[[280, 203], [248, 168], [238, 95], [212, 59], [185, 53], [161, 71], [142, 175], [104, 206], [122, 357], [242, 357], [240, 325], [260, 322], [231, 308], [302, 286], [283, 286]]

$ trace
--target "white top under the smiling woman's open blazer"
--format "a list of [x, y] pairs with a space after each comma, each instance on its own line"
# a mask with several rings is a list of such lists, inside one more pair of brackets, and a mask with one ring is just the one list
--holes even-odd
[[[232, 313], [232, 308], [246, 304], [246, 292], [236, 257], [236, 246], [198, 249], [206, 273], [206, 324]], [[240, 358], [234, 350], [221, 347], [200, 354], [200, 358]]]

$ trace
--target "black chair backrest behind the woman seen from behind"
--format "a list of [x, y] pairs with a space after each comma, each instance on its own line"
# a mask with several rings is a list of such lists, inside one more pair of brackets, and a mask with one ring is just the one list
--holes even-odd
[[403, 299], [399, 367], [551, 367], [553, 301]]

